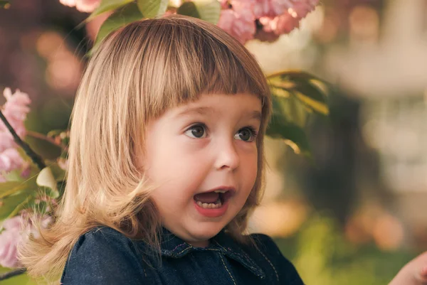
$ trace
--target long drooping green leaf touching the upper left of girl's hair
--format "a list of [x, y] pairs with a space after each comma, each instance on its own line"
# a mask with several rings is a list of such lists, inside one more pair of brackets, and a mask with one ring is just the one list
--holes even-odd
[[137, 4], [130, 3], [122, 8], [118, 9], [113, 13], [107, 20], [102, 23], [100, 31], [97, 33], [95, 44], [93, 49], [97, 48], [97, 45], [112, 31], [125, 26], [127, 23], [142, 19], [143, 16], [137, 8]]

